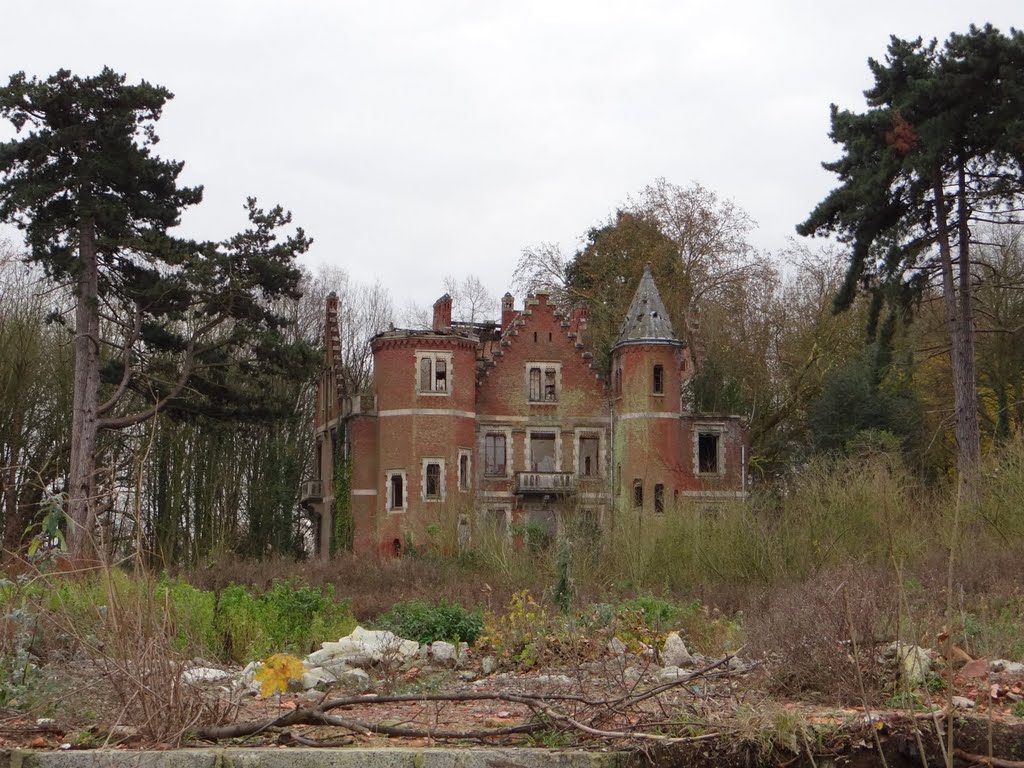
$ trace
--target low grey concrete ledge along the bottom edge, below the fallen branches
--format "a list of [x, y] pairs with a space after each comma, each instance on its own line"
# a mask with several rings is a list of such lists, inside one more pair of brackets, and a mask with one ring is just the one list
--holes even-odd
[[0, 768], [627, 768], [624, 752], [535, 749], [200, 749], [0, 753]]

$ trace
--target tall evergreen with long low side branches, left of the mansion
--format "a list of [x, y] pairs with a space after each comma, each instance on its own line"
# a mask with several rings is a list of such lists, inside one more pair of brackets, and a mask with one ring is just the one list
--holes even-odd
[[273, 309], [297, 296], [294, 257], [309, 246], [301, 229], [279, 242], [288, 213], [250, 200], [251, 228], [223, 244], [168, 234], [202, 199], [178, 185], [181, 163], [152, 153], [170, 98], [110, 69], [44, 81], [19, 73], [0, 88], [0, 116], [24, 134], [0, 144], [0, 220], [25, 231], [30, 261], [75, 286], [73, 556], [89, 554], [101, 430], [169, 410], [266, 413], [259, 373], [309, 361], [285, 343]]

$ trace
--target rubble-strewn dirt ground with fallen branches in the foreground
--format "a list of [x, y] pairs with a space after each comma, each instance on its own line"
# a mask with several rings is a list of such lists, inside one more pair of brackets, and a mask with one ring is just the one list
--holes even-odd
[[[971, 765], [992, 757], [995, 768], [1024, 768], [1024, 675], [989, 673], [981, 671], [983, 667], [964, 668], [953, 678], [952, 693], [974, 703], [954, 711], [955, 763]], [[146, 736], [145, 721], [126, 708], [124, 691], [119, 695], [103, 671], [69, 666], [57, 672], [63, 684], [52, 700], [28, 714], [0, 713], [0, 748], [124, 750], [210, 743], [199, 738], [196, 729], [175, 743], [155, 743]], [[881, 746], [885, 763], [894, 768], [944, 764], [945, 690], [919, 692], [913, 711], [865, 711], [780, 700], [766, 691], [765, 670], [757, 665], [730, 670], [723, 664], [710, 671], [684, 672], [690, 677], [666, 682], [656, 667], [640, 657], [608, 654], [572, 667], [483, 675], [479, 659], [471, 659], [461, 669], [407, 663], [371, 670], [370, 692], [336, 687], [263, 697], [232, 691], [222, 682], [189, 691], [217, 702], [222, 725], [265, 726], [219, 741], [232, 745], [486, 741], [628, 749], [658, 765], [716, 768], [874, 766], [883, 764]], [[148, 707], [150, 717], [161, 717], [159, 706], [151, 701]], [[47, 717], [40, 717], [43, 711]], [[335, 722], [328, 722], [331, 719]], [[516, 728], [528, 732], [507, 732]], [[480, 735], [496, 730], [506, 732]]]

